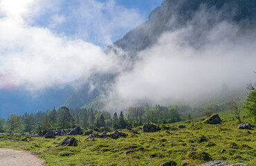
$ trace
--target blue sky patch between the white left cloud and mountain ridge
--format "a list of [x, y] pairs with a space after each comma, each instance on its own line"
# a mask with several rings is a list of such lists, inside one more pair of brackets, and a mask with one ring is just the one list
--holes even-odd
[[[162, 1], [61, 0], [35, 17], [33, 24], [105, 48], [132, 28], [147, 21], [149, 13], [161, 6]], [[56, 20], [60, 21], [59, 24], [53, 25]]]

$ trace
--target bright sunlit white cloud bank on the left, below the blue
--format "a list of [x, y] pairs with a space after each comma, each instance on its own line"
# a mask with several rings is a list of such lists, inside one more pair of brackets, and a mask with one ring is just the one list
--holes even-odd
[[[30, 7], [39, 4], [0, 1], [0, 8], [5, 9], [0, 18], [0, 87], [38, 90], [75, 80], [82, 74], [113, 70], [115, 59], [105, 55], [99, 46], [30, 25], [27, 20], [35, 12]], [[64, 21], [60, 15], [52, 18], [56, 24]]]

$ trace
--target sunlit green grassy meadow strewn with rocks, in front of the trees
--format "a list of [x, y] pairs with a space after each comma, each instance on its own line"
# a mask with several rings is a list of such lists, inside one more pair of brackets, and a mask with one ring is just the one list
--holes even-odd
[[[248, 132], [237, 129], [235, 124], [237, 121], [228, 117], [230, 117], [229, 113], [221, 113], [224, 122], [219, 125], [203, 124], [203, 118], [170, 124], [173, 127], [185, 124], [185, 129], [177, 131], [163, 130], [135, 135], [125, 129], [123, 131], [129, 136], [116, 140], [96, 138], [93, 141], [85, 140], [87, 136], [75, 136], [80, 140], [77, 147], [56, 147], [66, 136], [55, 139], [33, 137], [28, 141], [21, 141], [24, 136], [0, 135], [0, 147], [33, 151], [46, 160], [46, 165], [161, 165], [169, 160], [174, 160], [178, 165], [182, 160], [190, 160], [195, 164], [205, 163], [205, 160], [193, 159], [188, 155], [189, 151], [198, 153], [205, 151], [213, 160], [221, 159], [232, 164], [241, 162], [254, 165], [256, 163], [255, 130]], [[250, 122], [249, 118], [242, 120]], [[134, 130], [139, 131], [139, 129]], [[201, 134], [208, 140], [198, 142], [197, 137]], [[209, 147], [210, 142], [215, 146]], [[231, 147], [232, 142], [237, 144], [237, 148]], [[221, 149], [226, 149], [226, 152], [221, 154]], [[128, 150], [131, 153], [125, 156]]]

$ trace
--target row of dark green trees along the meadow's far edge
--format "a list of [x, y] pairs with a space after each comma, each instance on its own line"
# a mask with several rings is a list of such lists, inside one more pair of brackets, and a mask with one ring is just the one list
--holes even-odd
[[93, 109], [68, 109], [67, 107], [53, 108], [52, 110], [37, 111], [37, 113], [24, 113], [22, 116], [10, 114], [8, 119], [0, 118], [0, 132], [21, 131], [47, 131], [59, 129], [71, 129], [80, 125], [89, 129], [125, 129], [137, 127], [145, 122], [172, 123], [179, 122], [181, 118], [176, 109], [156, 104], [154, 107], [129, 107], [124, 113], [109, 111], [97, 111]]

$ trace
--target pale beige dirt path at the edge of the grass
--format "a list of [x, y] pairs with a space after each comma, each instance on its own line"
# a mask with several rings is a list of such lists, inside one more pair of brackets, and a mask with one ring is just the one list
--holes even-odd
[[37, 158], [29, 151], [16, 151], [0, 148], [0, 166], [42, 166], [44, 160]]

